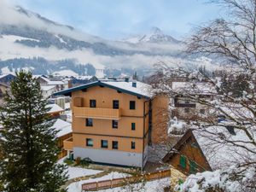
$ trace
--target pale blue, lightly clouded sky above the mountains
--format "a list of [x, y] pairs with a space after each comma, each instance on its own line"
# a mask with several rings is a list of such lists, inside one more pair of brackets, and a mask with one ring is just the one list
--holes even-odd
[[9, 1], [49, 20], [108, 39], [143, 34], [153, 26], [183, 38], [194, 26], [219, 16], [219, 8], [204, 0]]

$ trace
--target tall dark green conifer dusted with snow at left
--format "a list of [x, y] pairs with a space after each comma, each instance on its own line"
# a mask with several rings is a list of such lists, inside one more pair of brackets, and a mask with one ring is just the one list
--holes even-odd
[[11, 83], [1, 111], [0, 182], [7, 192], [60, 191], [67, 180], [57, 164], [54, 121], [47, 114], [40, 84], [20, 71]]

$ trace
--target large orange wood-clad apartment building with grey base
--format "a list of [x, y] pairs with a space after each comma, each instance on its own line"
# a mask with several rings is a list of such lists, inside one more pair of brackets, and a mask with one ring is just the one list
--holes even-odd
[[[55, 95], [72, 96], [73, 138], [64, 148], [74, 158], [95, 162], [145, 166], [151, 133], [151, 86], [141, 82], [105, 80], [84, 84]], [[160, 102], [159, 102], [160, 103]]]

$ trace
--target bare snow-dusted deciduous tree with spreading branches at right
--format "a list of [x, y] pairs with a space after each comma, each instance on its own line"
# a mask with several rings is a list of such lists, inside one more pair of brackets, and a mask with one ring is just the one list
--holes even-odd
[[[229, 167], [219, 165], [219, 183], [211, 183], [207, 180], [207, 174], [189, 177], [183, 191], [190, 191], [198, 187], [201, 191], [218, 189], [218, 191], [255, 191], [256, 190], [256, 0], [219, 0], [212, 1], [223, 6], [227, 15], [224, 19], [213, 20], [206, 26], [198, 27], [195, 34], [188, 40], [187, 52], [189, 54], [209, 55], [225, 65], [225, 77], [216, 79], [199, 71], [188, 71], [182, 68], [161, 67], [164, 74], [155, 84], [155, 92], [165, 93], [170, 97], [180, 94], [172, 89], [172, 77], [174, 74], [187, 74], [189, 84], [183, 89], [183, 96], [190, 101], [200, 103], [207, 107], [204, 115], [195, 113], [197, 118], [189, 119], [194, 127], [201, 132], [212, 134], [207, 137], [212, 143], [218, 143], [223, 147], [229, 145], [236, 151], [236, 162]], [[160, 73], [160, 72], [159, 72]], [[242, 78], [241, 78], [242, 77]], [[199, 82], [207, 82], [211, 87], [213, 99], [201, 97], [195, 94], [202, 91]], [[232, 89], [229, 81], [233, 84]], [[238, 82], [244, 83], [239, 85]], [[170, 83], [171, 82], [171, 83]], [[237, 83], [237, 86], [236, 86]], [[243, 86], [244, 85], [244, 86]], [[234, 93], [236, 90], [236, 94]], [[238, 94], [237, 94], [238, 90]], [[218, 122], [218, 114], [225, 116], [227, 121]], [[182, 116], [181, 116], [182, 118]], [[187, 118], [187, 117], [186, 117]], [[188, 119], [188, 118], [187, 118]], [[226, 137], [227, 123], [232, 125], [234, 131], [243, 137]], [[218, 127], [218, 131], [209, 128]], [[204, 134], [202, 134], [203, 137]], [[235, 153], [235, 152], [234, 152]], [[214, 157], [214, 155], [213, 155]], [[231, 163], [231, 161], [230, 161]], [[231, 166], [232, 165], [232, 166]], [[214, 175], [214, 172], [212, 173]], [[193, 177], [193, 179], [192, 179]], [[230, 187], [232, 186], [232, 188]]]

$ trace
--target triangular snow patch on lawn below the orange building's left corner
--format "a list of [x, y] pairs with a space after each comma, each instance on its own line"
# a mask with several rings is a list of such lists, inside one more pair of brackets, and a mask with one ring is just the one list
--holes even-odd
[[[62, 158], [61, 160], [58, 161], [58, 163], [64, 164], [63, 160], [65, 160], [65, 159], [66, 159], [66, 157]], [[95, 175], [100, 172], [102, 172], [102, 171], [93, 170], [93, 169], [85, 169], [85, 168], [74, 167], [74, 166], [67, 167], [68, 179], [75, 178], [75, 177]]]

